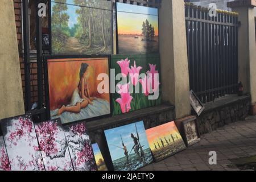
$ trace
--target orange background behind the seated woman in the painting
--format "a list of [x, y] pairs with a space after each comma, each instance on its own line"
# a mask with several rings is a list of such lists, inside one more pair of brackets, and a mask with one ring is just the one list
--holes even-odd
[[55, 59], [48, 60], [49, 100], [50, 109], [55, 110], [62, 105], [68, 105], [74, 90], [79, 85], [81, 63], [89, 65], [87, 81], [91, 97], [109, 101], [109, 94], [99, 94], [97, 91], [97, 76], [100, 73], [109, 75], [108, 58], [101, 59]]

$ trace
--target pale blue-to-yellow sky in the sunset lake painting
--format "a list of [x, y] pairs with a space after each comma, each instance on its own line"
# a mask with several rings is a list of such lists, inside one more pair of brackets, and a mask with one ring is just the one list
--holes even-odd
[[117, 3], [118, 34], [142, 34], [142, 23], [148, 20], [158, 36], [158, 9]]

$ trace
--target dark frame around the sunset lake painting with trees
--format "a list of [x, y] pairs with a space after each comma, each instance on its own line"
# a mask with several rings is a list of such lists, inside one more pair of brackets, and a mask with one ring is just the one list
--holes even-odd
[[[115, 2], [115, 36], [116, 36], [116, 50], [117, 50], [117, 55], [118, 55], [119, 54], [119, 46], [118, 46], [119, 42], [118, 42], [117, 3], [122, 3], [122, 2]], [[129, 3], [123, 3], [123, 4], [131, 5]], [[139, 6], [139, 5], [134, 5], [134, 6]], [[143, 6], [143, 7], [158, 9], [158, 52], [159, 52], [160, 51], [159, 8], [149, 7], [149, 6]], [[146, 53], [147, 52], [144, 52], [141, 54], [146, 54]], [[121, 53], [121, 54], [123, 54], [123, 53]], [[154, 53], [151, 53], [151, 54], [154, 54]], [[130, 55], [135, 55], [135, 54], [131, 53]]]

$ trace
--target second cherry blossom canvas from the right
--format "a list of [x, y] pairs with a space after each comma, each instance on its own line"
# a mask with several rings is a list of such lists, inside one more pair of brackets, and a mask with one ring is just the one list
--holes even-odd
[[73, 171], [60, 119], [35, 124], [46, 171]]

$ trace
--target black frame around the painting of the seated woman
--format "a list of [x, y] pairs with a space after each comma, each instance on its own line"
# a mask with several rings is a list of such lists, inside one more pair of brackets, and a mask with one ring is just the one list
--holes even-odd
[[68, 56], [60, 56], [60, 55], [56, 55], [56, 56], [51, 56], [51, 55], [47, 55], [44, 56], [44, 85], [45, 85], [45, 94], [46, 94], [46, 119], [51, 120], [51, 110], [50, 110], [50, 106], [49, 106], [49, 80], [48, 80], [48, 60], [49, 59], [85, 59], [85, 58], [108, 58], [108, 65], [109, 65], [109, 99], [110, 99], [110, 113], [106, 114], [106, 115], [100, 115], [98, 117], [93, 117], [93, 118], [87, 118], [87, 119], [81, 119], [79, 121], [73, 121], [73, 122], [69, 122], [69, 123], [62, 123], [61, 124], [63, 126], [68, 126], [68, 125], [72, 125], [72, 124], [76, 124], [76, 123], [80, 123], [80, 122], [89, 122], [89, 121], [94, 121], [96, 119], [102, 119], [102, 118], [106, 118], [106, 117], [111, 117], [112, 113], [113, 113], [113, 107], [111, 104], [112, 101], [112, 94], [110, 93], [110, 60], [111, 60], [111, 56], [110, 55], [68, 55]]

